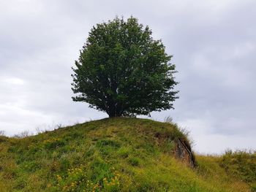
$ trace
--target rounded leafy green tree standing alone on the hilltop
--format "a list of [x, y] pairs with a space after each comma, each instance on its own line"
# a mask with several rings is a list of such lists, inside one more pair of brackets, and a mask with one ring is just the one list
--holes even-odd
[[149, 115], [173, 108], [177, 82], [161, 40], [137, 18], [115, 18], [93, 26], [72, 74], [73, 101], [110, 117]]

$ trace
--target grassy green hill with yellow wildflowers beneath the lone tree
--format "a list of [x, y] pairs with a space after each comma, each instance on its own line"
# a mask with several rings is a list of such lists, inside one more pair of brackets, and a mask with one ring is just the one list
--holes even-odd
[[0, 137], [0, 191], [256, 191], [255, 153], [195, 155], [193, 167], [180, 143], [190, 150], [175, 124], [137, 118]]

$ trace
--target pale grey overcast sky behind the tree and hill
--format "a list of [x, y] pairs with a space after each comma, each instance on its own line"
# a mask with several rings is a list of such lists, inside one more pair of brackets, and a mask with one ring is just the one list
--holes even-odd
[[[197, 153], [256, 150], [256, 1], [0, 0], [0, 131], [107, 118], [74, 102], [72, 66], [97, 23], [138, 18], [173, 55], [172, 117]], [[147, 117], [140, 117], [147, 118]]]

